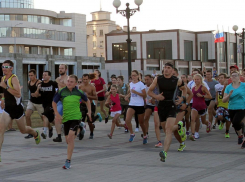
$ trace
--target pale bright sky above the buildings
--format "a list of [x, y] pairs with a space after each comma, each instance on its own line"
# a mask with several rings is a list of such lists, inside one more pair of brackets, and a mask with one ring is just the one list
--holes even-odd
[[[116, 14], [113, 0], [34, 0], [36, 9], [55, 12], [86, 14], [87, 21], [92, 20], [91, 12], [100, 10], [111, 12], [111, 20], [121, 27], [127, 20]], [[119, 10], [137, 8], [134, 0], [121, 0]], [[229, 31], [233, 25], [245, 28], [245, 0], [143, 0], [140, 11], [130, 18], [130, 27], [137, 31], [184, 29], [190, 31], [217, 30]]]

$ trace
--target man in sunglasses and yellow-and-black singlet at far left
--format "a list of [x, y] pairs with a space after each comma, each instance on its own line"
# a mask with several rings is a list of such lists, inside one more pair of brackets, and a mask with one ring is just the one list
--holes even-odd
[[39, 144], [41, 140], [38, 130], [35, 131], [26, 126], [25, 113], [21, 103], [20, 84], [17, 76], [12, 73], [13, 68], [14, 63], [11, 60], [5, 60], [2, 64], [2, 71], [5, 76], [1, 80], [0, 87], [3, 88], [4, 98], [2, 101], [5, 101], [5, 108], [0, 120], [0, 162], [4, 132], [11, 120], [16, 120], [22, 134], [33, 135], [36, 144]]

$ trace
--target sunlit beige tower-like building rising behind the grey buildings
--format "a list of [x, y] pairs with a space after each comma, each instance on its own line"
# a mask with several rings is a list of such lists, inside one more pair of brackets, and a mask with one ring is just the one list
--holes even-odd
[[119, 26], [110, 18], [111, 12], [92, 12], [92, 21], [87, 22], [88, 56], [105, 57], [105, 34], [116, 30]]

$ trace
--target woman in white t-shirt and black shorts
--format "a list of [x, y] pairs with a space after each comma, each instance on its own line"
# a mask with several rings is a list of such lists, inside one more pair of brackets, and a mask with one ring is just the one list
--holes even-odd
[[140, 127], [143, 131], [143, 144], [147, 143], [146, 129], [144, 125], [144, 99], [146, 98], [145, 85], [139, 81], [139, 72], [137, 70], [133, 70], [131, 73], [132, 82], [130, 83], [130, 93], [125, 97], [125, 100], [128, 100], [130, 97], [129, 107], [127, 110], [126, 116], [126, 124], [130, 131], [130, 139], [129, 142], [134, 140], [135, 134], [133, 133], [131, 120], [134, 114], [138, 115], [138, 120], [140, 123]]

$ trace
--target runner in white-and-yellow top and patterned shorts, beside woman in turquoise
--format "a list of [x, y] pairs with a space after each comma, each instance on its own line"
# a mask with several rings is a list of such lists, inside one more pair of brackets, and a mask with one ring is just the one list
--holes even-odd
[[226, 123], [226, 131], [225, 131], [225, 138], [230, 138], [229, 129], [230, 129], [230, 118], [229, 118], [229, 112], [228, 112], [228, 105], [229, 103], [224, 103], [222, 101], [223, 95], [222, 90], [224, 89], [224, 84], [226, 82], [227, 75], [225, 73], [219, 74], [219, 84], [215, 85], [215, 91], [216, 91], [216, 105], [217, 105], [217, 111], [216, 111], [216, 120], [220, 121], [219, 129], [222, 130], [224, 123]]

